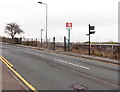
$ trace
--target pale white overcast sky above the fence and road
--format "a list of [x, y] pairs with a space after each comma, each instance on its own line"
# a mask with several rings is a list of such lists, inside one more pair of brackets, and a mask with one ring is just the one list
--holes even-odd
[[25, 34], [16, 37], [45, 39], [45, 5], [48, 5], [48, 38], [63, 41], [66, 22], [72, 22], [71, 41], [88, 41], [88, 24], [95, 26], [91, 41], [118, 41], [119, 0], [0, 0], [0, 35], [7, 23], [16, 22]]

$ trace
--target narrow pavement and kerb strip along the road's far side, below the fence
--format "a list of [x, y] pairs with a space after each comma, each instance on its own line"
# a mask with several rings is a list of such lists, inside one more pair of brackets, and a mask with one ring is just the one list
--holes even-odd
[[69, 55], [69, 56], [79, 57], [79, 58], [84, 58], [84, 59], [89, 59], [89, 60], [97, 60], [99, 62], [109, 63], [109, 64], [113, 64], [113, 65], [120, 65], [119, 60], [112, 60], [112, 59], [108, 59], [108, 58], [104, 58], [104, 57], [82, 55], [82, 54], [70, 53], [70, 52], [53, 51], [53, 50], [48, 50], [48, 49], [43, 49], [43, 48], [38, 48], [38, 47], [32, 47], [32, 46], [19, 45], [19, 44], [15, 44], [15, 45], [20, 46], [20, 47], [24, 47], [24, 48], [31, 48], [31, 49], [47, 51], [47, 52], [52, 52], [52, 53], [57, 53], [57, 54], [62, 54], [62, 55]]

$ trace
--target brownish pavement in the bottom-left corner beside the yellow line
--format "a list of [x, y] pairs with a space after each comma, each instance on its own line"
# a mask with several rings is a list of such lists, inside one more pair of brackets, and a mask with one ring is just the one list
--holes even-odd
[[24, 88], [21, 86], [18, 80], [13, 77], [5, 65], [2, 65], [2, 90], [25, 92]]

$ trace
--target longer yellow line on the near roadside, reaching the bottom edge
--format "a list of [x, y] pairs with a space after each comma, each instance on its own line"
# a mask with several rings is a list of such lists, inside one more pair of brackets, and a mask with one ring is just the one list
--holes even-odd
[[5, 60], [0, 57], [1, 61], [22, 81], [24, 82], [33, 92], [38, 92], [31, 84], [29, 84], [19, 73], [17, 73]]

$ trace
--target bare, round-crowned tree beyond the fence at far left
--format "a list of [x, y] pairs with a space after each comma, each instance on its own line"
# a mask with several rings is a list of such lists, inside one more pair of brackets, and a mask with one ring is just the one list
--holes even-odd
[[8, 23], [5, 27], [5, 33], [10, 35], [12, 39], [14, 39], [14, 36], [16, 34], [24, 33], [24, 31], [19, 27], [16, 23]]

